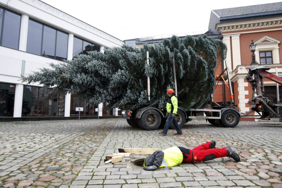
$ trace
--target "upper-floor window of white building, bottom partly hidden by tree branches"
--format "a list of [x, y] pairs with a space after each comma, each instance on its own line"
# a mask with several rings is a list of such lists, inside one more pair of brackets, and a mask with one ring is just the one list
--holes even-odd
[[73, 37], [73, 57], [79, 54], [87, 54], [87, 51], [100, 51], [100, 46], [86, 40]]

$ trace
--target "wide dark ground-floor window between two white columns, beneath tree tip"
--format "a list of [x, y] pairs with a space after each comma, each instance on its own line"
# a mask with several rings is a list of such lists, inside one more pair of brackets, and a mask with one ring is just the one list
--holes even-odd
[[24, 86], [22, 97], [22, 116], [63, 116], [63, 92], [53, 89]]

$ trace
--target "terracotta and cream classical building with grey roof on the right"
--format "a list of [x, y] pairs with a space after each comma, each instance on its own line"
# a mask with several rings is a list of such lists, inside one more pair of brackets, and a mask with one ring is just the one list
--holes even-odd
[[[247, 101], [252, 97], [252, 88], [245, 76], [250, 66], [269, 66], [268, 72], [272, 74], [278, 68], [278, 77], [282, 77], [282, 2], [212, 10], [208, 29], [223, 35], [222, 40], [228, 48], [226, 63], [234, 85], [235, 104], [241, 112], [249, 112]], [[249, 46], [252, 40], [256, 45], [258, 65], [250, 65], [252, 52]], [[271, 103], [279, 103], [276, 83], [264, 79], [264, 84], [265, 96]], [[218, 87], [216, 92], [222, 94], [223, 90], [223, 87]]]

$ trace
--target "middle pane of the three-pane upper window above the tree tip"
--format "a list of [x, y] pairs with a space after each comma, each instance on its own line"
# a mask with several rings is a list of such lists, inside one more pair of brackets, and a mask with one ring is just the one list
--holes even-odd
[[42, 56], [55, 59], [55, 40], [56, 30], [44, 25], [41, 52]]

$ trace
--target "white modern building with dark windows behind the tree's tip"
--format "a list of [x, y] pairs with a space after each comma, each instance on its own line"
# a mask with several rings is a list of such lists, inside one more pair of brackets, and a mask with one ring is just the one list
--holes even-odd
[[[116, 115], [95, 112], [73, 94], [55, 93], [38, 84], [25, 84], [21, 75], [72, 60], [77, 54], [121, 46], [123, 41], [39, 0], [0, 0], [0, 117]], [[105, 104], [104, 104], [105, 105]]]

